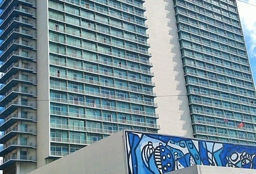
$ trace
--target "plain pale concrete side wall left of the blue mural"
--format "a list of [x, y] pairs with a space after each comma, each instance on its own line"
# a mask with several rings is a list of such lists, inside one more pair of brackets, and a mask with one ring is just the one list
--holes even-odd
[[127, 162], [123, 135], [122, 131], [113, 134], [29, 174], [125, 174]]

